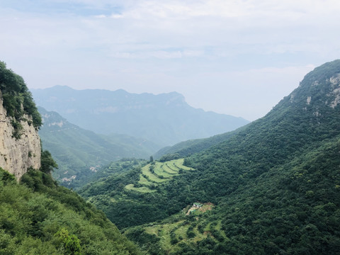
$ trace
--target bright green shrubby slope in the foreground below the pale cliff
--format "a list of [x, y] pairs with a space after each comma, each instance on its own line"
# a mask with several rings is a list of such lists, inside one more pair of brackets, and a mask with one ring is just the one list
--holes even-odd
[[44, 171], [18, 184], [0, 169], [0, 254], [140, 254], [103, 212]]

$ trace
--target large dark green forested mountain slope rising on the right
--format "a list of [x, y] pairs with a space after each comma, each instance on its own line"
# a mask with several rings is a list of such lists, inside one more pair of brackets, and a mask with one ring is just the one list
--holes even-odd
[[[151, 222], [178, 212], [126, 229], [152, 254], [338, 254], [339, 153], [336, 60], [307, 74], [265, 117], [186, 158], [196, 170], [159, 183], [156, 192], [99, 187], [91, 192], [87, 187], [81, 194], [102, 199], [98, 206], [105, 205], [111, 215], [122, 206], [121, 196], [131, 198], [129, 210], [135, 215], [125, 217], [125, 227], [132, 217]], [[131, 174], [130, 182], [136, 178], [138, 183], [138, 176]], [[118, 202], [106, 203], [107, 198]], [[152, 218], [149, 210], [134, 210], [143, 201], [159, 213]], [[196, 202], [215, 207], [196, 216], [181, 212]]]

